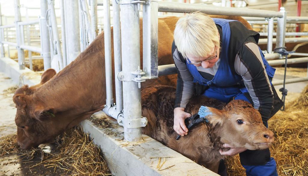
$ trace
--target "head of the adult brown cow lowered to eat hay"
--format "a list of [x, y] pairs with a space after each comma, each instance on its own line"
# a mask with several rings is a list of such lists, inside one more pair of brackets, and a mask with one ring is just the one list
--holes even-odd
[[43, 73], [39, 84], [30, 88], [25, 85], [14, 93], [13, 101], [17, 108], [15, 117], [15, 124], [18, 127], [17, 142], [23, 149], [51, 142], [50, 140], [65, 128], [59, 121], [61, 114], [56, 114], [53, 107], [47, 107], [44, 100], [35, 96], [37, 90], [55, 74], [55, 70], [48, 69]]

